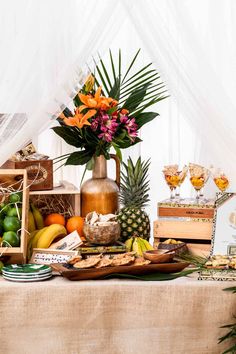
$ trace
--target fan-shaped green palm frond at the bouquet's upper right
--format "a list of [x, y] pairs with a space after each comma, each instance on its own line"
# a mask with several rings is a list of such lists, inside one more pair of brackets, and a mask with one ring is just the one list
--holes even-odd
[[[109, 51], [110, 60], [107, 66], [101, 57], [99, 57], [98, 62], [95, 61], [98, 73], [95, 81], [97, 87], [102, 86], [108, 96], [119, 101], [120, 108], [128, 109], [129, 113], [135, 117], [151, 105], [168, 97], [159, 73], [155, 68], [151, 67], [152, 63], [132, 73], [139, 53], [140, 49], [135, 53], [124, 75], [122, 75], [120, 50], [117, 60], [118, 69], [116, 69], [111, 50]], [[109, 75], [109, 71], [111, 71], [112, 75]]]

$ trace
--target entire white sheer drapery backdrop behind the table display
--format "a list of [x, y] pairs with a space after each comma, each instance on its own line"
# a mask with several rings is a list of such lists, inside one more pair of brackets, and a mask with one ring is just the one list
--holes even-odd
[[[13, 117], [19, 130], [7, 139], [0, 119], [0, 162], [33, 135], [40, 152], [67, 152], [49, 130], [36, 135], [71, 100], [85, 63], [98, 49], [106, 56], [121, 48], [128, 61], [141, 47], [140, 64], [153, 61], [170, 93], [154, 108], [160, 118], [142, 129], [143, 142], [124, 154], [152, 159], [152, 217], [168, 196], [167, 163], [222, 167], [235, 190], [235, 15], [234, 0], [3, 0], [0, 112], [26, 112], [27, 121]], [[66, 167], [57, 178], [78, 184], [79, 171]], [[190, 190], [187, 181], [183, 194]]]

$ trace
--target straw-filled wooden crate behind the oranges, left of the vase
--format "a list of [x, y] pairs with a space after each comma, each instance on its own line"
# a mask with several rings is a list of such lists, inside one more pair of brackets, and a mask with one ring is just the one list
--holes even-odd
[[[80, 192], [67, 181], [49, 191], [30, 191], [30, 201], [39, 208], [43, 216], [53, 212], [63, 214], [66, 218], [80, 215]], [[50, 206], [50, 211], [46, 205]]]

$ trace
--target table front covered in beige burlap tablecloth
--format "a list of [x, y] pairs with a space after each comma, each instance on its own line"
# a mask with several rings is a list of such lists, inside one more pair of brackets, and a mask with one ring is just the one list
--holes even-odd
[[0, 353], [219, 354], [232, 282], [0, 279]]

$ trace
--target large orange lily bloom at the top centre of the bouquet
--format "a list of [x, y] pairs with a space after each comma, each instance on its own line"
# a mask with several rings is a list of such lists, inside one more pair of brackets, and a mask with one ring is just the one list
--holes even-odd
[[82, 112], [86, 108], [102, 109], [103, 111], [106, 111], [118, 104], [118, 102], [111, 97], [101, 96], [101, 91], [102, 88], [100, 86], [94, 97], [92, 95], [83, 95], [82, 93], [79, 93], [79, 99], [83, 103], [83, 105], [79, 107], [79, 111]]

